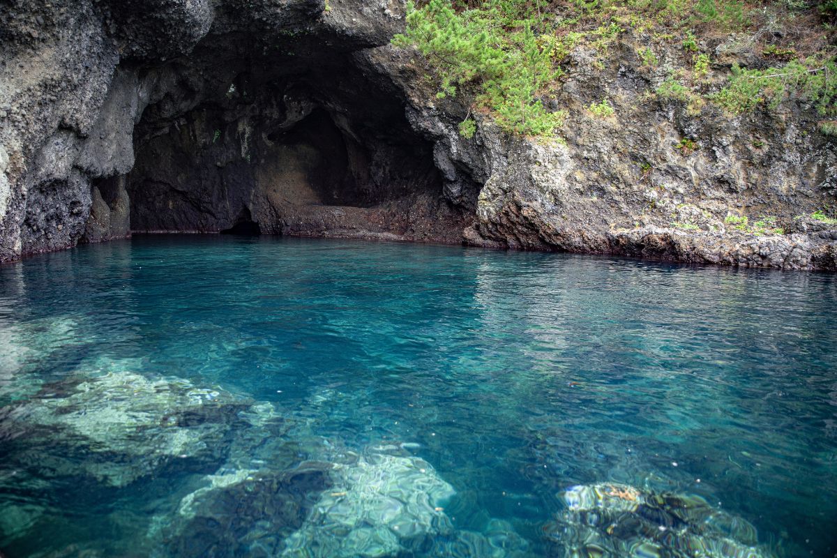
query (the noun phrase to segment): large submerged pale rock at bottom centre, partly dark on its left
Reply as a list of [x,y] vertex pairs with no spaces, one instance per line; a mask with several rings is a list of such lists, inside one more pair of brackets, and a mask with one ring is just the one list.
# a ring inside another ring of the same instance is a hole
[[159,516],[150,538],[162,532],[177,556],[531,556],[505,521],[455,529],[444,512],[454,489],[424,459],[375,448],[341,456],[278,473],[225,466]]

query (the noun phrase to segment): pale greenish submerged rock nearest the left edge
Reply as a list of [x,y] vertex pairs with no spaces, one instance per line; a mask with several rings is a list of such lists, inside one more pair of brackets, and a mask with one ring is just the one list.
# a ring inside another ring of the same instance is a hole
[[54,446],[46,457],[23,452],[18,458],[52,475],[85,474],[114,487],[178,459],[217,461],[251,402],[185,380],[150,379],[131,372],[134,365],[108,361],[102,376],[45,385],[15,407],[8,419],[18,435],[30,438],[27,448],[39,452],[40,438]]

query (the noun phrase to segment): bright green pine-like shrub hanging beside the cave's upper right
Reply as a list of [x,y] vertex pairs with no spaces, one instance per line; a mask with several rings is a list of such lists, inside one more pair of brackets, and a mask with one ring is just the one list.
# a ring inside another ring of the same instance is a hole
[[559,44],[554,35],[536,33],[535,8],[489,0],[456,13],[445,0],[430,0],[421,8],[408,3],[407,28],[393,44],[419,49],[439,79],[439,98],[469,85],[476,102],[494,113],[504,131],[551,136],[563,113],[548,112],[540,94],[561,74],[553,63]]

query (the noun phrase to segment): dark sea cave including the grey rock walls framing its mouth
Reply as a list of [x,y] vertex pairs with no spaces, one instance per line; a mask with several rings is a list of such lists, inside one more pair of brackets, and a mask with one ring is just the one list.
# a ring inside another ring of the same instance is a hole
[[467,105],[391,44],[403,3],[16,0],[7,16],[19,61],[0,72],[49,71],[0,107],[0,261],[136,233],[482,245],[477,197],[504,163],[482,146],[501,141],[463,140]]

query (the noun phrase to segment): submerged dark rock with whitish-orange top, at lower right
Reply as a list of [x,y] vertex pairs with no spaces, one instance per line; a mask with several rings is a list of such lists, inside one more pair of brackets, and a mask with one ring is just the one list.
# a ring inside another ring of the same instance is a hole
[[746,520],[713,508],[700,496],[643,492],[627,484],[574,486],[567,508],[547,525],[557,554],[770,558]]

